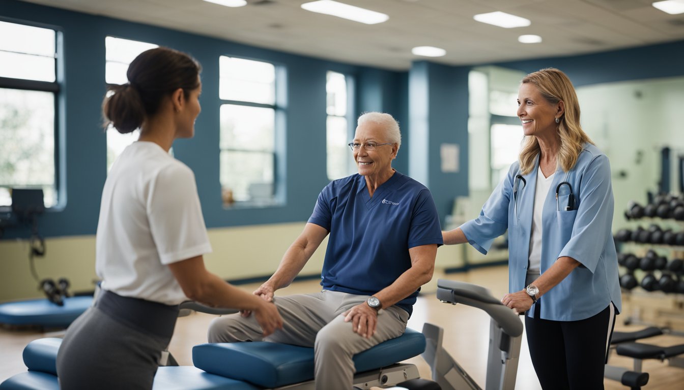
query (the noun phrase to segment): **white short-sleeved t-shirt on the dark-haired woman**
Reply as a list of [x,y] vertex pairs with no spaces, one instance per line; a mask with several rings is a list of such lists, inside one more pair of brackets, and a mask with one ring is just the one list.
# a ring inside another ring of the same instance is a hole
[[177,305],[183,294],[167,264],[211,252],[195,176],[153,142],[137,141],[109,171],[97,224],[101,287]]

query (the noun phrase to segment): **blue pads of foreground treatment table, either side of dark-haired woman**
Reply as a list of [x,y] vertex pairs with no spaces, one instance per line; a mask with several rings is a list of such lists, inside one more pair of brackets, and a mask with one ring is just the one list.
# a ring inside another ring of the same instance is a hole
[[[30,342],[23,353],[29,371],[0,383],[0,390],[58,390],[55,362],[61,344],[59,338]],[[354,363],[357,372],[365,372],[415,357],[424,350],[425,336],[406,328],[404,335],[356,354]],[[217,372],[198,368],[209,365],[212,359]],[[153,390],[259,390],[313,380],[313,348],[267,342],[200,344],[193,348],[193,360],[198,367],[159,367]]]

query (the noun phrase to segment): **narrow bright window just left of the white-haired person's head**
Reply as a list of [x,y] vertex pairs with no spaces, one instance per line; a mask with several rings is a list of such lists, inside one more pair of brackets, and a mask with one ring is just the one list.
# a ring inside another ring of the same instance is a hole
[[347,80],[344,74],[328,72],[326,76],[326,144],[328,179],[335,180],[354,173],[347,124]]

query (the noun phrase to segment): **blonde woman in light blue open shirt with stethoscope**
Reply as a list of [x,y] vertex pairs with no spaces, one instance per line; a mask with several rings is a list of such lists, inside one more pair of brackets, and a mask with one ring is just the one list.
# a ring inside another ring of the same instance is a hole
[[509,294],[525,312],[527,342],[544,389],[603,389],[603,368],[620,311],[611,234],[614,200],[608,158],[579,125],[568,76],[528,74],[518,91],[525,139],[508,176],[479,217],[449,232],[487,253],[508,229]]

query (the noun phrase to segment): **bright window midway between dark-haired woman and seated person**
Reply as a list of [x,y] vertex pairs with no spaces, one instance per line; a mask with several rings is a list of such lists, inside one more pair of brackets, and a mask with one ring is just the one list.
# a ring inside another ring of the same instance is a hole
[[224,206],[274,203],[276,67],[219,59],[220,182]]

